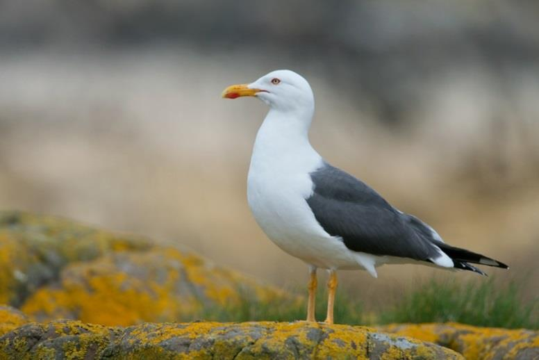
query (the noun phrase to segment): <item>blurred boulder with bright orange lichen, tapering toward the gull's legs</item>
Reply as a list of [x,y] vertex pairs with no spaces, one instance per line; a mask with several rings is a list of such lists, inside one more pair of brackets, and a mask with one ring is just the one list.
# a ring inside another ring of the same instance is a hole
[[58,283],[35,291],[21,309],[40,321],[70,318],[127,326],[192,320],[205,307],[240,302],[245,291],[260,302],[289,296],[198,256],[154,248],[68,265]]

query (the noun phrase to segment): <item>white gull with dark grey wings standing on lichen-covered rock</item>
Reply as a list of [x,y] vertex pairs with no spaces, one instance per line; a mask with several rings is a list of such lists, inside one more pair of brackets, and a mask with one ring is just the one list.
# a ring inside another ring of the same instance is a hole
[[307,321],[315,320],[317,269],[329,271],[326,320],[333,324],[337,270],[421,263],[486,275],[471,264],[507,265],[442,240],[428,224],[390,205],[363,181],[324,161],[310,145],[315,111],[309,83],[276,70],[231,85],[226,99],[257,97],[269,106],[256,134],[247,200],[256,222],[277,246],[308,264]]

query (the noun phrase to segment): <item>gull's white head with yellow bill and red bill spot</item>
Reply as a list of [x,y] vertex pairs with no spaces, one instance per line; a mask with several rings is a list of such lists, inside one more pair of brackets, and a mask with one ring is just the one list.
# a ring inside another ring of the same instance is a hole
[[315,98],[313,90],[303,76],[290,70],[276,70],[262,76],[250,84],[231,85],[222,97],[258,97],[279,111],[313,111]]

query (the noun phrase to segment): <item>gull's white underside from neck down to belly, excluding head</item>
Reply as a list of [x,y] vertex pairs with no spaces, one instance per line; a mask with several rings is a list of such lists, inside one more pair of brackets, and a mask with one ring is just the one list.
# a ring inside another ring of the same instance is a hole
[[310,172],[323,165],[308,140],[290,141],[265,120],[256,137],[247,199],[265,234],[292,256],[320,268],[358,268],[340,238],[317,222],[306,199],[313,193]]

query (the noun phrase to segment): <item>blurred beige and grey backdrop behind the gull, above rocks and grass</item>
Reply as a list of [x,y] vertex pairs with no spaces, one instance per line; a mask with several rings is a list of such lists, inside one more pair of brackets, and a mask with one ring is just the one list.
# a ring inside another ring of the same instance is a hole
[[[144,234],[303,289],[306,266],[247,207],[267,108],[220,99],[282,68],[313,86],[311,142],[327,161],[537,295],[536,1],[1,1],[0,208]],[[445,274],[388,266],[341,284],[378,303]]]

